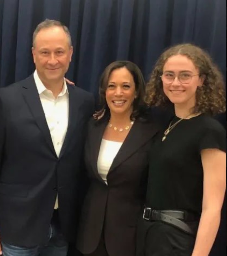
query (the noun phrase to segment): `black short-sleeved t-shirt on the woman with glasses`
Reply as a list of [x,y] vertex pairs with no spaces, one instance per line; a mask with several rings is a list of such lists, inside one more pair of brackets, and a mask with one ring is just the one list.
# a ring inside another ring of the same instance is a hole
[[[172,124],[178,121],[174,117]],[[226,132],[206,114],[180,121],[162,142],[160,132],[151,145],[146,207],[186,210],[200,216],[203,196],[202,149],[226,151]],[[213,170],[215,172],[215,170]]]

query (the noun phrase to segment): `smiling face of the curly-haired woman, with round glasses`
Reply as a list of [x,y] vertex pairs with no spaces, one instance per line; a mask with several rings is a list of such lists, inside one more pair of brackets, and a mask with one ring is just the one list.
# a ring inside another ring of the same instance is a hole
[[184,55],[171,56],[163,67],[163,91],[175,106],[191,108],[196,104],[196,90],[203,78],[193,62]]

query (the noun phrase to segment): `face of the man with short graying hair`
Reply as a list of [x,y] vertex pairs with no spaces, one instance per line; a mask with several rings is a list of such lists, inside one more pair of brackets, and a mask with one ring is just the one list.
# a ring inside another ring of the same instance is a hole
[[40,80],[44,85],[62,82],[72,57],[72,46],[63,28],[43,28],[34,44],[32,55]]

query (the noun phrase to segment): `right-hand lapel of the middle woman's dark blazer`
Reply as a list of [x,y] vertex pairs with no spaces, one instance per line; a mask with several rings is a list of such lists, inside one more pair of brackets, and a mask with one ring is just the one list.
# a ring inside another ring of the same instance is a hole
[[136,120],[112,162],[109,173],[142,147],[158,131],[159,128],[154,123],[142,123]]

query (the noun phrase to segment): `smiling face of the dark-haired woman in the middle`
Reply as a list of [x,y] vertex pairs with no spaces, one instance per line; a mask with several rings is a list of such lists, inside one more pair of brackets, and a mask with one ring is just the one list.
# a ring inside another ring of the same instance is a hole
[[136,96],[135,82],[132,74],[125,67],[117,68],[110,73],[106,102],[110,114],[131,115]]

